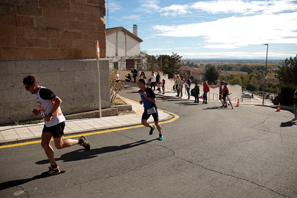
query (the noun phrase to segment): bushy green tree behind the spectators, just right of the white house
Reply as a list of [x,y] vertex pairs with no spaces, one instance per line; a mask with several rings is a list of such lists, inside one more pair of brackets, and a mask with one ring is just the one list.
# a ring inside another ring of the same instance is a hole
[[[162,55],[162,64],[163,64],[163,56],[168,55]],[[165,74],[168,74],[168,78],[173,78],[174,74],[181,73],[180,69],[180,62],[181,62],[182,56],[179,56],[177,53],[172,53],[170,58],[166,57],[165,64],[163,65],[163,72]]]

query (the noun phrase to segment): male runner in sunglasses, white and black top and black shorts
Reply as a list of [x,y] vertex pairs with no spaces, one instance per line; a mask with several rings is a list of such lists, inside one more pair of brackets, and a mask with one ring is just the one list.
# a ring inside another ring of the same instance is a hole
[[41,134],[41,146],[50,161],[50,167],[48,171],[43,172],[41,175],[44,177],[48,177],[50,175],[58,174],[61,171],[56,164],[54,151],[50,145],[50,140],[52,139],[52,137],[57,149],[62,149],[78,144],[82,145],[87,151],[89,151],[91,148],[90,144],[84,136],[81,136],[78,140],[63,140],[65,117],[62,114],[60,108],[62,100],[58,96],[56,96],[56,94],[54,94],[50,89],[40,86],[37,78],[34,75],[25,77],[23,79],[23,84],[25,86],[25,89],[32,95],[36,94],[38,110],[33,109],[33,115],[37,116],[41,114],[42,118],[45,121],[45,125],[43,126]]

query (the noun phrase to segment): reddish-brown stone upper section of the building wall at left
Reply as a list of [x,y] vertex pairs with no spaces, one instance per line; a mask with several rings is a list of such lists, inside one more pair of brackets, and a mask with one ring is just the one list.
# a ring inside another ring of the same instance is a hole
[[0,60],[106,57],[105,0],[0,1]]

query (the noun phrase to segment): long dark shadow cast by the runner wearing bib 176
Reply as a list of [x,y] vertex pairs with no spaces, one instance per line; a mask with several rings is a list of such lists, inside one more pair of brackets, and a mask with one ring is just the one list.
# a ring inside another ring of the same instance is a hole
[[[55,158],[55,160],[56,161],[63,160],[63,162],[66,162],[66,161],[78,161],[78,160],[84,160],[84,159],[91,159],[91,158],[97,157],[99,154],[132,148],[135,146],[147,144],[149,142],[152,142],[152,141],[158,140],[158,139],[159,138],[156,138],[153,140],[148,140],[148,141],[140,140],[137,142],[124,144],[121,146],[105,146],[102,148],[94,148],[94,149],[91,149],[90,151],[86,151],[84,148],[82,148],[82,149],[78,149],[76,151],[65,153],[65,154],[61,155],[60,158]],[[37,161],[36,164],[48,164],[48,159]]]

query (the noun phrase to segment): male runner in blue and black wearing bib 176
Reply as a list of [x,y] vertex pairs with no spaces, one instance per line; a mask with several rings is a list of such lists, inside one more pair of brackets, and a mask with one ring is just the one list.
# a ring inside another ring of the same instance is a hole
[[[138,80],[138,87],[140,90],[138,93],[140,94],[141,100],[139,101],[139,104],[143,104],[144,112],[141,117],[141,124],[143,126],[151,128],[149,134],[152,135],[154,132],[154,129],[157,127],[159,131],[159,139],[163,140],[163,134],[161,125],[159,124],[159,116],[158,116],[158,110],[156,106],[156,96],[154,91],[146,87],[146,80],[145,79],[139,79]],[[147,122],[150,116],[153,116],[155,125],[151,125]]]

